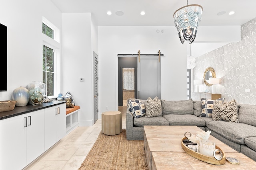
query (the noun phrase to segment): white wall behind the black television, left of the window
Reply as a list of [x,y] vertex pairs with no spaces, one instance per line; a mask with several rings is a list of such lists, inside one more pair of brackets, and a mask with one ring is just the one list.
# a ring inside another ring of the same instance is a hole
[[15,88],[42,81],[42,1],[0,4],[0,23],[7,26],[7,92],[0,100],[11,100]]

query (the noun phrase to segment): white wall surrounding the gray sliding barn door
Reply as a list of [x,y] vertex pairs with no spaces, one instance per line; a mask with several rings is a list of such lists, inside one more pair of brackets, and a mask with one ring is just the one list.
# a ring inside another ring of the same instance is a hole
[[175,27],[100,26],[98,30],[99,117],[104,111],[118,110],[116,54],[137,54],[138,50],[141,54],[157,54],[160,50],[164,54],[161,57],[161,98],[187,99],[187,46],[180,43]]

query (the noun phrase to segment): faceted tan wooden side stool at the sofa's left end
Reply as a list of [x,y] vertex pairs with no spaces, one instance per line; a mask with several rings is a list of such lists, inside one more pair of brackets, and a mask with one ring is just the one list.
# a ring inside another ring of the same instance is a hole
[[101,114],[101,131],[104,135],[120,134],[122,129],[122,112],[106,111]]

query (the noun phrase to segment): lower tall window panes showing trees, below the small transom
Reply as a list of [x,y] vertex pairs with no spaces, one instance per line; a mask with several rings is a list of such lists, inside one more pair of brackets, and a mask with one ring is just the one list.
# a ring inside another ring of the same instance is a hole
[[54,95],[54,51],[43,45],[43,83],[46,84],[46,96]]

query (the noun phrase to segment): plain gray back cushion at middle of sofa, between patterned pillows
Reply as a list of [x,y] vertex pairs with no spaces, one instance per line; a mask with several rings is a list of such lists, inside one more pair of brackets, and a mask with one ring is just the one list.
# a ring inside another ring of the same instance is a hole
[[166,101],[161,100],[162,104],[162,114],[176,114],[176,115],[184,115],[184,114],[194,114],[193,109],[193,100],[179,100],[179,101]]

